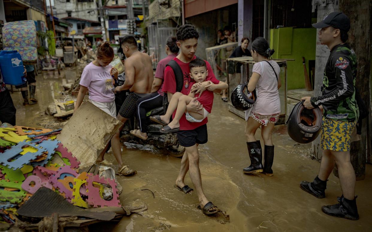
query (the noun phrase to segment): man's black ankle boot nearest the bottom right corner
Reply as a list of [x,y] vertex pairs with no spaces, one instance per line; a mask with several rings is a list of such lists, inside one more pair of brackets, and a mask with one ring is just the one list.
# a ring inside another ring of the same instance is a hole
[[344,196],[342,195],[340,197],[339,204],[334,204],[331,206],[322,206],[322,211],[323,213],[328,214],[330,216],[341,217],[350,220],[358,220],[359,214],[358,209],[356,207],[356,198],[357,197],[355,197],[353,200],[348,200],[344,198]]

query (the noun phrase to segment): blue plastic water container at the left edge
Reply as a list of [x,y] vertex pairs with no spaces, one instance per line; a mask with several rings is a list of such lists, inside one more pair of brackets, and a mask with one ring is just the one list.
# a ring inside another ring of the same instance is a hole
[[18,51],[0,51],[0,69],[7,85],[22,85],[26,82],[22,57]]

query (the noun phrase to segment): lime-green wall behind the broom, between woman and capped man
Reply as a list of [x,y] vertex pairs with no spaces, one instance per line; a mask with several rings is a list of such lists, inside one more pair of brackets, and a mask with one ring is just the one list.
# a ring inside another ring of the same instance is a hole
[[273,58],[295,59],[287,62],[288,89],[305,88],[302,57],[305,57],[307,72],[309,72],[308,61],[315,60],[316,33],[315,28],[270,29],[270,48],[275,49]]

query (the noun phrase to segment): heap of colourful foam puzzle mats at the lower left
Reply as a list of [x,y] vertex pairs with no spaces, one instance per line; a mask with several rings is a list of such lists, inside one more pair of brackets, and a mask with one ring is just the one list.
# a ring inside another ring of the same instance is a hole
[[[121,207],[115,179],[79,171],[80,162],[56,139],[61,130],[0,127],[0,216],[5,222],[15,223],[17,208],[42,187],[74,206]],[[108,188],[112,200],[103,197]]]

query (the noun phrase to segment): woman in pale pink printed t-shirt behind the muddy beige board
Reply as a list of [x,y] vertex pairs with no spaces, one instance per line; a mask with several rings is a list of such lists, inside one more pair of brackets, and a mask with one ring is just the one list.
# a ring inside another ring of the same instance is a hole
[[[110,64],[114,58],[114,51],[110,46],[110,42],[106,41],[100,44],[96,54],[96,60],[85,66],[83,73],[81,73],[80,90],[77,95],[75,110],[80,107],[87,90],[89,90],[89,101],[107,114],[116,118],[113,77],[118,79],[118,70],[112,68]],[[96,160],[97,164],[112,165],[112,163],[103,159],[107,146],[98,156]],[[124,165],[122,161],[121,145],[118,135],[115,134],[112,137],[111,146],[113,155],[119,164],[119,173],[123,175],[134,174],[135,171],[131,170],[127,165]]]

